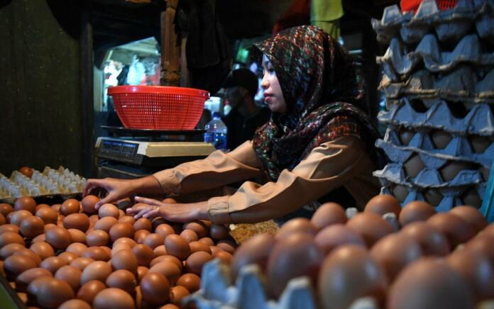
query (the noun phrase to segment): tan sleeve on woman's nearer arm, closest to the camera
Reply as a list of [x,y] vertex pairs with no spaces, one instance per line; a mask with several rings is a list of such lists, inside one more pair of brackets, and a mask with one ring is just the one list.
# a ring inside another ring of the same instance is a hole
[[314,147],[292,171],[283,170],[276,182],[245,182],[231,196],[210,198],[213,223],[256,223],[279,218],[317,200],[356,176],[368,163],[358,137],[339,137]]

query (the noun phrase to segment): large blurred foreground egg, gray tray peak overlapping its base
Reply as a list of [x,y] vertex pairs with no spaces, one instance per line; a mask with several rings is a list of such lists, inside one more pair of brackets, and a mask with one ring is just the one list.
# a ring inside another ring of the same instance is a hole
[[322,308],[348,308],[354,300],[373,297],[384,302],[384,271],[363,247],[342,245],[324,259],[317,291]]

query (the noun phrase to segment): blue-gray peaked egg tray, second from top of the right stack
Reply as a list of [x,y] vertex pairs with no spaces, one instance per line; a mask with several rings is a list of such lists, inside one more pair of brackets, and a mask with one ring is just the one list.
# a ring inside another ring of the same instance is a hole
[[376,57],[376,62],[382,64],[385,74],[391,80],[399,81],[410,76],[415,67],[422,63],[429,72],[446,72],[461,63],[479,67],[492,66],[494,52],[486,51],[476,34],[465,35],[451,52],[441,51],[437,38],[429,33],[424,35],[412,51],[399,39],[391,39],[385,55]]

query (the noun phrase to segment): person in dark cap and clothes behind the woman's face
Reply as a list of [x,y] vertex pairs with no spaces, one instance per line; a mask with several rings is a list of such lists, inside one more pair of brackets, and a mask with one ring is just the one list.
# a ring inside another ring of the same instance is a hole
[[235,69],[223,84],[225,99],[231,111],[223,121],[228,128],[226,145],[234,149],[246,140],[251,140],[258,127],[268,122],[271,111],[260,107],[254,97],[258,91],[256,74],[249,69]]

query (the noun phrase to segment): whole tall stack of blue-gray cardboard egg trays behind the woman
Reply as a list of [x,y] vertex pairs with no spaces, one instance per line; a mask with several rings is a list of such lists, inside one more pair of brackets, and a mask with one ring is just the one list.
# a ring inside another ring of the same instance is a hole
[[[388,125],[376,146],[390,163],[374,172],[402,206],[481,208],[494,158],[494,1],[459,0],[439,11],[389,6],[373,28],[389,44],[377,62]],[[485,212],[485,210],[482,209]]]

